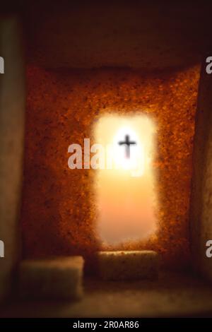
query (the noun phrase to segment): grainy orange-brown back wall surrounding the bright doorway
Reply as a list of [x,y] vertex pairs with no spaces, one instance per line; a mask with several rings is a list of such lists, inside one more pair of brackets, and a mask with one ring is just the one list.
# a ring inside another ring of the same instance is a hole
[[[165,266],[189,261],[189,195],[199,66],[144,74],[130,69],[47,71],[28,68],[23,186],[23,253],[27,258],[97,250],[151,249]],[[68,147],[93,141],[105,114],[147,114],[158,127],[158,232],[118,248],[100,242],[95,170],[70,170]],[[88,259],[89,261],[89,259]]]

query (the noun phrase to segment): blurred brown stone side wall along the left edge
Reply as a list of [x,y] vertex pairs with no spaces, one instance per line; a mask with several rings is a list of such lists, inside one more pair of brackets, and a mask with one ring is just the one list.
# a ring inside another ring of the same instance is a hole
[[0,301],[11,288],[19,254],[18,223],[25,124],[25,71],[18,21],[0,19],[0,56],[5,73],[0,74]]

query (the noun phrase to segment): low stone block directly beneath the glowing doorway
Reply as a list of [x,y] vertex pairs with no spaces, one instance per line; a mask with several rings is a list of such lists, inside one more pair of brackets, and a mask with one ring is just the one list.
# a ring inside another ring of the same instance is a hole
[[139,280],[158,277],[155,251],[100,251],[98,270],[103,280]]

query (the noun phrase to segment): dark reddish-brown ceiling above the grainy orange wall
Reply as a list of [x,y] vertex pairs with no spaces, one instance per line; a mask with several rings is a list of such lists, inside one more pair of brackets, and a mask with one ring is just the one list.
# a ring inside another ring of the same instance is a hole
[[208,1],[16,1],[27,60],[58,68],[189,66],[211,49]]

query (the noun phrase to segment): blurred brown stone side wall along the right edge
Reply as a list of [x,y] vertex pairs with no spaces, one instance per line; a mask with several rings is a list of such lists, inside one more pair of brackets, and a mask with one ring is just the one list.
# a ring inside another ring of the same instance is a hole
[[[205,57],[206,59],[206,57]],[[203,61],[194,136],[190,230],[192,261],[197,271],[212,280],[212,259],[206,242],[212,239],[212,74]]]

